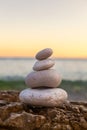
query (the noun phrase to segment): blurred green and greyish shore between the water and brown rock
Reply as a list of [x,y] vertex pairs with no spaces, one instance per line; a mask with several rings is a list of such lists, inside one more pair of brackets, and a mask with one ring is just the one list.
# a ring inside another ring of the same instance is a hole
[[[18,90],[27,88],[24,80],[5,81],[0,80],[0,90]],[[67,91],[69,100],[87,101],[87,81],[65,81],[63,80],[59,88]]]

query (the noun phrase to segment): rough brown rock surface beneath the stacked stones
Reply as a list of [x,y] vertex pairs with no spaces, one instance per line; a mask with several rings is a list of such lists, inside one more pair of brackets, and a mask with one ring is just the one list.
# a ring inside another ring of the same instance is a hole
[[0,92],[0,130],[87,130],[87,103],[36,108],[22,104],[18,94]]

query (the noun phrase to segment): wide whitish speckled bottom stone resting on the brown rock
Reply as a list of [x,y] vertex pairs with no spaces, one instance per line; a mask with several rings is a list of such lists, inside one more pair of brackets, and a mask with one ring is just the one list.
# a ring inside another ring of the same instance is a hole
[[59,106],[66,102],[67,92],[61,88],[25,89],[20,95],[21,102],[34,106]]

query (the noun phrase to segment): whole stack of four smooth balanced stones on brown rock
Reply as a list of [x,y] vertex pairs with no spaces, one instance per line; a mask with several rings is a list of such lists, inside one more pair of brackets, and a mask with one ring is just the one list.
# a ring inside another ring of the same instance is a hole
[[36,54],[33,71],[25,79],[29,88],[19,95],[21,102],[32,106],[57,107],[67,101],[67,92],[58,88],[61,77],[51,68],[55,64],[49,58],[52,53],[52,49],[46,48]]

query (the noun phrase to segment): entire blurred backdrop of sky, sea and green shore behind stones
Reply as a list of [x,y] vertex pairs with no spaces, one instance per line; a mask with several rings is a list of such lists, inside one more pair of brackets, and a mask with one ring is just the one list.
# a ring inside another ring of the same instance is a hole
[[87,101],[87,1],[0,1],[0,90],[24,89],[44,48],[70,100]]

